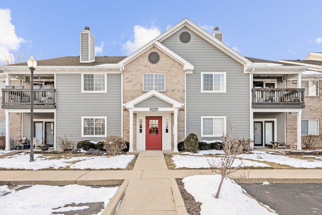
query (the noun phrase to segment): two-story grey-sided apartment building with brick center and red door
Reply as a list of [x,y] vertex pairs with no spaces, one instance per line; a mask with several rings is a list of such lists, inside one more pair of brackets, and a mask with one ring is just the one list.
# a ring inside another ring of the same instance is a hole
[[[220,140],[234,126],[236,137],[264,147],[286,140],[286,115],[294,113],[301,149],[304,90],[301,82],[287,89],[286,81],[307,66],[247,58],[222,38],[184,19],[127,57],[98,57],[86,27],[80,56],[37,61],[34,138],[59,149],[55,137],[64,134],[75,142],[113,134],[130,142],[130,152],[177,152],[191,132]],[[9,150],[11,115],[22,114],[21,135],[31,135],[30,70],[26,63],[0,69],[6,85],[18,76],[24,86],[3,89]]]

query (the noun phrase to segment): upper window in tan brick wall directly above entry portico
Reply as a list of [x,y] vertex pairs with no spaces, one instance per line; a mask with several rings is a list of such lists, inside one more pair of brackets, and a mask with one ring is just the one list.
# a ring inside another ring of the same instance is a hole
[[165,74],[143,74],[143,91],[165,91],[166,90]]

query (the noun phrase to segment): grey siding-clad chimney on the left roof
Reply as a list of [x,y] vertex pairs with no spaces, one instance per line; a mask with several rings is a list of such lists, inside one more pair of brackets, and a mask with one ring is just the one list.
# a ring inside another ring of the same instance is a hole
[[95,62],[95,38],[90,30],[90,27],[85,27],[85,30],[80,31],[79,37],[81,46],[79,62]]

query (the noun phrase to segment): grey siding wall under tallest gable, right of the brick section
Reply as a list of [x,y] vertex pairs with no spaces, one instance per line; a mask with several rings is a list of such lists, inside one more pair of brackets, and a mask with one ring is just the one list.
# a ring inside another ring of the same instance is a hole
[[[190,42],[180,42],[183,31],[191,34]],[[193,74],[187,74],[186,135],[193,132],[201,139],[220,139],[200,137],[201,116],[226,116],[227,131],[234,126],[236,137],[249,137],[250,83],[243,65],[186,27],[162,43],[194,65]],[[225,72],[226,93],[201,93],[202,72]]]

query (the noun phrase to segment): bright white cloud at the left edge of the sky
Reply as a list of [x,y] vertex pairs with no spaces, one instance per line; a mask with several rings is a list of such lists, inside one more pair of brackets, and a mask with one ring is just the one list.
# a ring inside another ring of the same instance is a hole
[[13,55],[20,44],[25,42],[22,37],[16,35],[15,26],[11,23],[10,9],[0,8],[0,64],[4,64],[5,56]]

